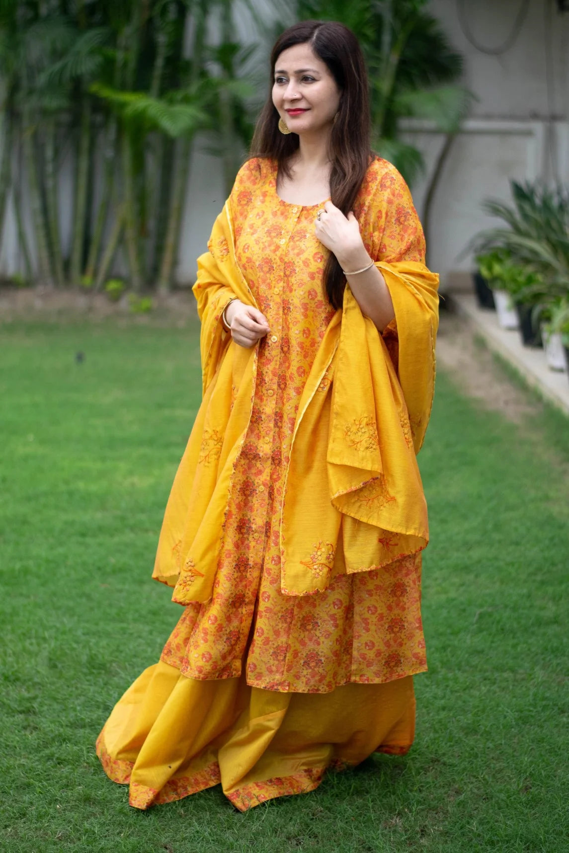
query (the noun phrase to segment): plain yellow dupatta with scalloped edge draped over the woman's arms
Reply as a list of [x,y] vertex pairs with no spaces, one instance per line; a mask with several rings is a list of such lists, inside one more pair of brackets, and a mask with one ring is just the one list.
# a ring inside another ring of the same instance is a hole
[[[194,287],[203,400],[165,510],[153,577],[173,601],[212,596],[231,479],[253,409],[257,350],[220,317],[229,299],[255,305],[235,260],[225,205]],[[427,506],[415,453],[433,402],[438,276],[424,264],[377,267],[395,308],[397,344],[364,317],[350,287],[300,398],[282,505],[282,592],[326,589],[339,572],[385,566],[425,548]],[[386,343],[387,341],[387,343]]]

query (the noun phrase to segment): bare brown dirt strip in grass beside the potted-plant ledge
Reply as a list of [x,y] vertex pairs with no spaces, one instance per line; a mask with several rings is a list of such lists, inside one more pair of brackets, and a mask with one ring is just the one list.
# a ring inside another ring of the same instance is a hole
[[508,421],[521,423],[526,415],[543,409],[537,397],[516,387],[504,374],[490,350],[478,343],[460,316],[444,311],[437,337],[437,362],[468,397],[486,409],[501,412]]

